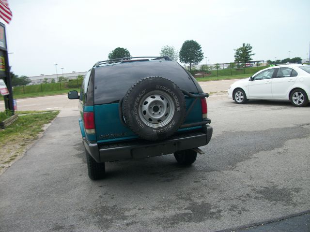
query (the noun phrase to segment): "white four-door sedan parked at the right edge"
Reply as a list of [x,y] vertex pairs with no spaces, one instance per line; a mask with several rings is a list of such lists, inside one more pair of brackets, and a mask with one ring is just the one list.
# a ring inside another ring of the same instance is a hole
[[294,106],[308,105],[310,65],[287,64],[263,69],[233,83],[228,98],[238,104],[249,99],[290,100]]

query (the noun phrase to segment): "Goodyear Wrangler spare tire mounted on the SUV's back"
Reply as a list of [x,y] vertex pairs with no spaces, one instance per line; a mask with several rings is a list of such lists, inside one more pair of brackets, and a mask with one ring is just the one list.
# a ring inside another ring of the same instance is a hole
[[156,141],[171,136],[183,124],[186,102],[171,80],[151,76],[128,89],[122,110],[131,131],[143,139]]

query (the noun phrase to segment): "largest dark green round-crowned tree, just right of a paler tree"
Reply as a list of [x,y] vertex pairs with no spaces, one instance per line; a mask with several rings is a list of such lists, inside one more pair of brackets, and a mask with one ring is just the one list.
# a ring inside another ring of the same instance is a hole
[[194,40],[186,40],[179,52],[180,61],[189,64],[191,70],[192,63],[199,63],[203,59],[202,46]]

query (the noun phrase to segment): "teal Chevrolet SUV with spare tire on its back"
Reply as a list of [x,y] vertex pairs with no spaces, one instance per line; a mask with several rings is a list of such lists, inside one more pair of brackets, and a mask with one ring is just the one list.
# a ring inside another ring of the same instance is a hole
[[169,57],[97,62],[86,74],[78,99],[79,127],[89,177],[105,175],[105,162],[174,154],[181,165],[195,162],[207,145],[207,93]]

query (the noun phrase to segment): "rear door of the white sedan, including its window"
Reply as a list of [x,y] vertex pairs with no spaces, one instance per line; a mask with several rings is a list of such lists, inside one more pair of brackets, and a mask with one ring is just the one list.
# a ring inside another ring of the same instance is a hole
[[297,79],[297,72],[292,68],[279,68],[272,79],[272,98],[283,99],[287,96]]

